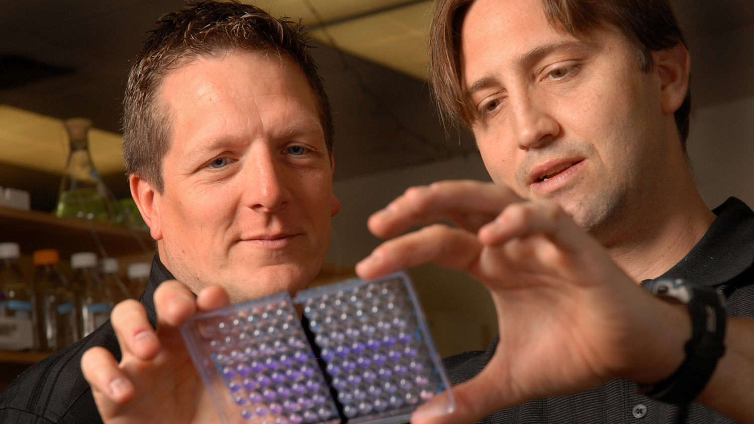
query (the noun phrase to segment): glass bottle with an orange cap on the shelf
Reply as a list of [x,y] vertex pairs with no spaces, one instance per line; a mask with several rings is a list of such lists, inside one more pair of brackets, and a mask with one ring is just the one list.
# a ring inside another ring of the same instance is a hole
[[58,269],[60,253],[57,250],[37,250],[32,258],[36,267],[34,290],[38,349],[60,350],[79,338],[75,297],[68,280]]

